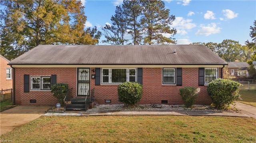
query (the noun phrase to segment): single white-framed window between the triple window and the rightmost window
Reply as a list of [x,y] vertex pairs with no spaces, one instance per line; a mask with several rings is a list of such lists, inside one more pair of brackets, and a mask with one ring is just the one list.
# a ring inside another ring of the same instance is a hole
[[163,84],[175,84],[176,69],[175,68],[163,68]]

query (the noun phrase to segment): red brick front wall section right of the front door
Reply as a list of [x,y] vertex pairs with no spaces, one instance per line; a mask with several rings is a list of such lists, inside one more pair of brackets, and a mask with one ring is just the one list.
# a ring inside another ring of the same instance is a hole
[[[179,95],[179,89],[185,86],[200,88],[196,104],[209,105],[212,103],[207,93],[207,86],[198,86],[198,68],[182,68],[182,86],[162,85],[162,68],[143,68],[142,80],[143,95],[139,104],[161,104],[162,100],[168,100],[168,104],[171,105],[184,104]],[[105,100],[111,100],[112,104],[121,104],[118,102],[118,85],[95,86],[94,79],[90,83],[91,89],[95,88],[96,101],[99,104],[104,104]]]

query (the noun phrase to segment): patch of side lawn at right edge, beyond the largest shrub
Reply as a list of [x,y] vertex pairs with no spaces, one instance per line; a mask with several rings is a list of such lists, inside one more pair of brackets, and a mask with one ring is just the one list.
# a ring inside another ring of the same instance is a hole
[[238,102],[256,107],[256,90],[240,90],[239,94],[242,100]]

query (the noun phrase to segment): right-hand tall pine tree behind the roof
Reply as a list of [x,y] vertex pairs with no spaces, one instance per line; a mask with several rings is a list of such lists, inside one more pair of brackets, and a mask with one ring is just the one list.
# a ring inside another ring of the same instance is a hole
[[169,44],[176,43],[174,36],[176,29],[170,27],[175,16],[169,15],[170,10],[165,8],[161,0],[141,0],[143,16],[141,19],[145,44]]

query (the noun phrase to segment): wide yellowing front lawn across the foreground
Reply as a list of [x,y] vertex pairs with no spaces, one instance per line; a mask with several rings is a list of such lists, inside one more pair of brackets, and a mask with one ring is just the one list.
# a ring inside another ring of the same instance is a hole
[[1,136],[12,143],[255,143],[256,119],[208,116],[42,116]]

